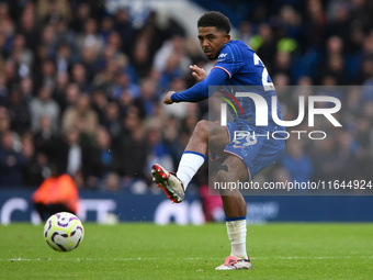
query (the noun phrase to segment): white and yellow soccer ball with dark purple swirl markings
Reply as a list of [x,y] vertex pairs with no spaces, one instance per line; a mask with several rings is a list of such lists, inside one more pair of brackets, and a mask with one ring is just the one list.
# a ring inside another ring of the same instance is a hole
[[84,236],[83,225],[71,213],[52,215],[44,226],[44,238],[57,251],[70,251],[79,246]]

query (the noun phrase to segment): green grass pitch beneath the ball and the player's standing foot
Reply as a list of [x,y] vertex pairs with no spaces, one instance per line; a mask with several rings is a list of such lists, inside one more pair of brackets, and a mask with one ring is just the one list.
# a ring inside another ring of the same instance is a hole
[[43,226],[0,226],[0,279],[373,279],[373,224],[249,225],[253,269],[215,271],[225,224],[84,224],[81,245],[50,249]]

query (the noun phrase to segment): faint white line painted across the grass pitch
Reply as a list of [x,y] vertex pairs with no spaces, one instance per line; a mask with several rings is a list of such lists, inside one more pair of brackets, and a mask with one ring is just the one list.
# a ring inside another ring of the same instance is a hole
[[[110,260],[114,261],[133,261],[133,260],[162,260],[162,259],[174,259],[174,258],[112,258]],[[224,258],[182,258],[184,260],[217,260],[217,259],[224,259]],[[296,259],[373,259],[373,256],[318,256],[318,257],[299,257],[299,256],[290,256],[290,257],[252,257],[250,258],[252,260],[267,260],[267,259],[284,259],[284,260],[296,260]],[[0,261],[101,261],[101,260],[108,260],[103,258],[75,258],[75,259],[27,259],[27,258],[13,258],[13,259],[0,259]]]

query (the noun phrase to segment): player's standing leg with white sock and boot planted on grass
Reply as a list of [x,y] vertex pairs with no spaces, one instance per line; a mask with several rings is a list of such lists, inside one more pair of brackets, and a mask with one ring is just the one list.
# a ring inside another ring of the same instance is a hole
[[[222,183],[249,181],[249,172],[241,159],[236,156],[228,156],[217,172],[216,180]],[[221,186],[222,186],[221,184]],[[228,184],[225,184],[228,186]],[[230,256],[217,270],[228,269],[251,269],[251,264],[246,251],[246,201],[238,189],[221,190],[226,226],[230,240]]]

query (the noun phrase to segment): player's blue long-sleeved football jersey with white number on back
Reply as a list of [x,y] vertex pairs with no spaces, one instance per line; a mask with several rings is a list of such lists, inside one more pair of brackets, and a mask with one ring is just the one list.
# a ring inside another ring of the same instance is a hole
[[[224,70],[226,75],[219,74],[222,70],[214,71],[214,68]],[[283,128],[276,125],[272,117],[272,97],[276,94],[268,70],[259,56],[244,42],[231,40],[225,44],[211,74],[192,88],[173,93],[171,100],[199,102],[207,99],[215,91],[221,91],[225,96],[222,98],[229,103],[228,108],[235,122],[270,131]],[[247,93],[251,97],[247,97]],[[279,101],[275,104],[278,119],[283,120]],[[260,110],[258,113],[261,116],[262,113],[267,113],[267,117],[256,120],[257,109]],[[265,119],[264,124],[263,119]]]

